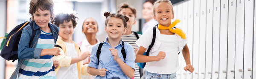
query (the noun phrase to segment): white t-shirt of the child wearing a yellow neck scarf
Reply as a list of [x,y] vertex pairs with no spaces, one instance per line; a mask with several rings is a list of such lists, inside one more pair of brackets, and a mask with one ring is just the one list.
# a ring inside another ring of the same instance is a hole
[[[153,28],[143,34],[137,41],[136,44],[148,48],[153,38]],[[183,50],[186,45],[186,40],[183,40],[177,34],[165,35],[160,34],[158,28],[156,28],[156,40],[154,46],[149,52],[149,56],[157,56],[160,51],[166,53],[166,57],[160,61],[147,62],[145,70],[151,73],[158,74],[172,74],[179,70],[178,53]]]

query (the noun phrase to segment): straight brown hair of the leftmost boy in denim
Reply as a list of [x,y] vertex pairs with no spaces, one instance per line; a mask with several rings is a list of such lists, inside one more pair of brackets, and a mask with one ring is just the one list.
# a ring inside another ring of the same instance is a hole
[[53,1],[52,0],[31,0],[29,3],[29,14],[31,14],[31,20],[34,21],[34,13],[38,9],[44,11],[49,10],[51,14],[51,20],[53,19]]

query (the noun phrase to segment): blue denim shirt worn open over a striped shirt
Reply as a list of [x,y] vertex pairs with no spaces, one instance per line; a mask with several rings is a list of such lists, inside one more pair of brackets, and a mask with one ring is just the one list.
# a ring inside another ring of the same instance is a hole
[[[54,37],[54,42],[56,43],[56,41],[58,39],[58,33],[57,33],[57,31],[55,31],[55,29],[53,27],[57,27],[57,25],[48,23],[48,26],[52,31],[52,35]],[[31,27],[34,28],[33,30],[36,30],[36,34],[31,42],[31,45],[29,46],[30,36],[32,36],[32,28]],[[17,68],[15,69],[14,73],[12,73],[12,76],[10,79],[17,78],[18,71],[20,70],[20,66],[22,65],[24,59],[40,58],[42,48],[35,48],[40,34],[41,34],[41,28],[35,23],[35,21],[33,21],[33,26],[27,25],[25,28],[23,28],[22,34],[20,37],[19,46],[18,46],[18,57],[19,57],[18,65],[17,65]]]

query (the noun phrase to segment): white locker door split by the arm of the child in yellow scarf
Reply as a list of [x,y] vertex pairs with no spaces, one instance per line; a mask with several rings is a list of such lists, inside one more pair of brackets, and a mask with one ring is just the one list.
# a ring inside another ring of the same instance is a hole
[[[186,33],[186,36],[187,36],[187,33],[188,33],[188,31],[187,31],[188,30],[187,29],[188,28],[187,15],[188,15],[188,2],[186,1],[186,2],[182,3],[182,18],[181,18],[181,21],[183,21],[182,22],[182,29]],[[186,62],[185,62],[185,59],[184,59],[182,53],[180,53],[180,56],[182,56],[180,58],[180,60],[181,60],[181,65],[180,65],[181,79],[186,79],[186,71],[184,70],[184,67],[186,66]]]

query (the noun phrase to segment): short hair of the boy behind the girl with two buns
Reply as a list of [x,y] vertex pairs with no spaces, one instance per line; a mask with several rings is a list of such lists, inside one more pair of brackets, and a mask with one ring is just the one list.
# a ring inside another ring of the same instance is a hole
[[117,11],[117,13],[119,13],[123,8],[130,8],[132,13],[134,14],[135,18],[136,18],[136,9],[134,7],[132,7],[129,3],[125,2],[125,3],[121,3],[118,6],[119,10]]

